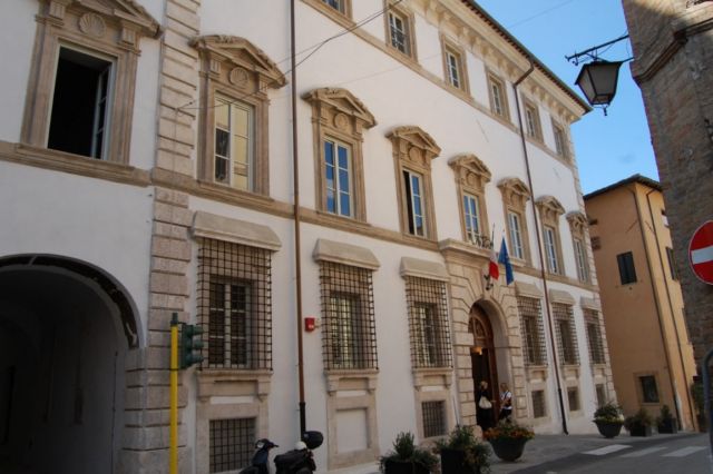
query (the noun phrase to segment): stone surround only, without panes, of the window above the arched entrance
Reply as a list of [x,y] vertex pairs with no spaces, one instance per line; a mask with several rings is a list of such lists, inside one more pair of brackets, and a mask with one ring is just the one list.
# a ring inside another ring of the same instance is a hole
[[[490,224],[488,221],[488,207],[486,205],[486,185],[490,182],[491,172],[488,167],[475,155],[457,155],[448,160],[448,166],[453,170],[456,186],[458,188],[458,207],[460,209],[460,226],[463,241],[480,248],[490,248],[492,244],[488,236]],[[472,241],[466,226],[466,209],[463,198],[466,195],[478,199],[479,237]]]

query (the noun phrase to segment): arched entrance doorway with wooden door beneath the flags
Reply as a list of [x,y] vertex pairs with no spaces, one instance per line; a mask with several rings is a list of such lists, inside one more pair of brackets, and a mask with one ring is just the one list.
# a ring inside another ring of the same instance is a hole
[[[469,330],[473,335],[473,346],[470,348],[473,387],[478,389],[481,381],[490,386],[494,401],[498,399],[498,365],[495,354],[492,325],[488,314],[477,304],[470,308]],[[494,409],[497,415],[497,409]]]

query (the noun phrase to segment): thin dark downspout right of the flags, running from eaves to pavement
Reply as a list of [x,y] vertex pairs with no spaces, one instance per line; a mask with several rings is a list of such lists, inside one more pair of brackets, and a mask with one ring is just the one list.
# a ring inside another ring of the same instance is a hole
[[553,314],[549,308],[549,290],[547,288],[547,271],[545,268],[545,256],[543,254],[543,238],[540,236],[539,218],[537,217],[537,209],[535,208],[535,190],[533,188],[533,172],[530,170],[530,159],[527,154],[527,139],[525,138],[525,127],[522,126],[522,113],[520,110],[520,98],[518,95],[518,87],[529,75],[535,70],[535,61],[528,57],[530,67],[525,73],[512,83],[515,91],[515,106],[517,108],[517,120],[520,128],[520,141],[522,142],[522,156],[525,157],[525,169],[527,170],[527,186],[530,190],[530,201],[533,207],[533,218],[535,219],[535,236],[537,237],[537,255],[539,257],[540,278],[543,279],[543,288],[545,290],[545,310],[547,312],[547,327],[549,329],[549,340],[553,347],[553,362],[555,365],[555,379],[557,381],[557,398],[559,401],[559,413],[561,415],[561,431],[564,434],[569,434],[567,431],[567,412],[565,411],[565,401],[561,394],[561,381],[559,377],[559,361],[557,356],[557,339],[555,338]]

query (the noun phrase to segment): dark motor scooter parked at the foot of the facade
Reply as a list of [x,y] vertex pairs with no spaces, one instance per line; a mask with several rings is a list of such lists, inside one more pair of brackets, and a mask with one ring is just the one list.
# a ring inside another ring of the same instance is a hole
[[[320,447],[323,441],[324,436],[320,432],[302,433],[302,440],[295,443],[294,450],[275,456],[276,474],[312,474],[316,471],[312,450]],[[251,466],[240,474],[268,474],[267,458],[270,450],[274,447],[280,446],[267,438],[257,440]]]

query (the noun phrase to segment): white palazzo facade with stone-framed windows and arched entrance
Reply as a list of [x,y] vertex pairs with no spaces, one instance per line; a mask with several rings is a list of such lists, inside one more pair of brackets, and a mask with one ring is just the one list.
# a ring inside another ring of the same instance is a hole
[[287,1],[7,3],[0,471],[166,472],[174,313],[205,344],[180,472],[294,443],[299,332],[320,472],[475,425],[484,379],[538,433],[594,431],[589,109],[478,6],[295,0],[293,75]]

